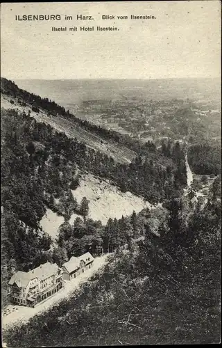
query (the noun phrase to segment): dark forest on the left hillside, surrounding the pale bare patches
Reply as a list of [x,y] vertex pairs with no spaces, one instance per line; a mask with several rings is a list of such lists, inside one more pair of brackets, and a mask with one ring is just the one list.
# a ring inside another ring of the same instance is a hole
[[[154,204],[179,196],[186,180],[184,154],[178,143],[174,146],[169,143],[166,149],[163,144],[163,154],[174,159],[173,166],[167,168],[140,155],[132,164],[116,164],[111,157],[67,138],[49,125],[36,122],[26,113],[21,115],[13,109],[2,109],[1,207],[5,284],[16,269],[27,271],[51,257],[51,237],[40,228],[46,207],[64,216],[66,224],[73,212],[87,217],[87,201],[78,205],[71,193],[78,187],[76,168],[106,177],[122,191],[132,191]],[[59,203],[56,203],[57,199]],[[96,230],[100,229],[101,223],[98,223]],[[85,234],[87,230],[90,228],[85,226]],[[84,237],[83,232],[79,233]],[[92,243],[93,248],[98,245],[105,248],[101,232],[98,237],[85,239],[88,244],[85,242],[84,247],[78,245],[73,250],[88,251]],[[75,243],[78,244],[75,241],[70,245]],[[53,253],[54,260],[60,259],[63,253],[62,244],[58,245],[60,248]],[[69,247],[68,255],[70,250]]]

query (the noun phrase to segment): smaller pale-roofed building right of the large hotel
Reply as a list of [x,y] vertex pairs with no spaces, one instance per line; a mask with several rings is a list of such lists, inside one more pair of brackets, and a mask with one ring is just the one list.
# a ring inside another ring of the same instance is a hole
[[68,262],[62,264],[63,280],[71,280],[83,274],[85,270],[93,267],[93,262],[94,258],[90,253],[85,253],[78,258],[72,256]]

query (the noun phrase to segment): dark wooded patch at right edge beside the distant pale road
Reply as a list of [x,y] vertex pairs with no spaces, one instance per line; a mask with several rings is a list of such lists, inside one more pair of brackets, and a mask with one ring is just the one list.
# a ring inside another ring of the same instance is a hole
[[192,145],[187,157],[195,174],[221,174],[221,143]]

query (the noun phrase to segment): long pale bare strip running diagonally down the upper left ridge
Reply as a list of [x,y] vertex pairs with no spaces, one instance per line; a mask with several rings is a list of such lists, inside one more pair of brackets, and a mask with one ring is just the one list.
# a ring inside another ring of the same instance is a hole
[[42,103],[41,107],[41,103],[33,102],[30,93],[20,90],[15,84],[11,84],[6,79],[1,79],[1,107],[5,109],[13,108],[21,113],[29,113],[37,122],[51,125],[58,132],[65,132],[70,138],[77,139],[85,143],[89,148],[99,150],[109,157],[111,156],[119,163],[130,163],[135,158],[136,153],[133,150],[113,140],[108,139],[104,141],[102,136],[80,127],[74,117],[69,119],[65,117],[65,109],[62,107],[50,113],[44,106],[44,103]]

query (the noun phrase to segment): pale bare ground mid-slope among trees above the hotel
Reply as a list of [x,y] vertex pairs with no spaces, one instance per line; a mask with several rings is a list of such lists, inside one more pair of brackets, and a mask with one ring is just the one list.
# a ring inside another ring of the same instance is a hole
[[[130,216],[133,211],[138,213],[142,209],[153,209],[155,207],[131,192],[121,192],[110,180],[102,180],[90,173],[81,175],[79,186],[71,192],[78,205],[84,197],[87,198],[89,201],[89,218],[94,221],[101,221],[104,226],[110,218],[121,219],[122,216]],[[70,225],[74,224],[76,218],[83,219],[79,214],[72,213],[69,219]],[[46,213],[40,220],[40,226],[52,239],[56,239],[59,228],[64,222],[63,216],[59,216],[56,212],[47,208]]]

